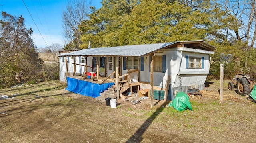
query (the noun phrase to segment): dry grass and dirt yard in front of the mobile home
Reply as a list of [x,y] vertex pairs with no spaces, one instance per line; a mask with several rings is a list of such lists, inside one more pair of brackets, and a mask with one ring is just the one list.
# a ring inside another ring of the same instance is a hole
[[0,100],[1,142],[254,142],[248,135],[256,128],[256,104],[229,90],[220,102],[219,84],[212,82],[202,96],[190,97],[193,111],[182,112],[163,101],[150,108],[117,100],[110,108],[58,81],[3,89],[0,95],[13,98]]

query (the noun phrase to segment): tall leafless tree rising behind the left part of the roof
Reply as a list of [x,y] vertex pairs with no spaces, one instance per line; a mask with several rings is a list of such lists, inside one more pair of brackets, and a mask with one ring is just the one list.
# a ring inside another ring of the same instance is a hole
[[[62,10],[64,41],[72,43],[73,49],[80,48],[80,45],[82,44],[78,25],[86,20],[87,15],[90,12],[90,5],[91,1],[75,0],[68,2],[66,9]],[[65,49],[68,48],[70,47]]]

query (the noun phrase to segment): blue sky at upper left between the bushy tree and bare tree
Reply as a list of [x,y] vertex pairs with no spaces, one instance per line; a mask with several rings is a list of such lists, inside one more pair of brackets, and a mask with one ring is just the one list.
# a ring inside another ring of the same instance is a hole
[[[31,27],[34,31],[32,38],[38,48],[44,48],[53,43],[59,43],[63,46],[61,15],[68,1],[69,0],[24,0],[23,2],[22,0],[0,0],[0,12],[4,11],[17,17],[22,15],[22,17],[25,18],[26,27]],[[92,0],[92,6],[98,9],[101,7],[100,2],[102,2],[102,0]]]

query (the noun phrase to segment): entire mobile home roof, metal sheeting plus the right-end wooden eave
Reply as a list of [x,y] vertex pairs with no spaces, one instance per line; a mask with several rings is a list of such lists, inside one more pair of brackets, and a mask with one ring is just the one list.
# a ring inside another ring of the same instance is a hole
[[[145,55],[149,55],[156,51],[166,48],[172,48],[177,45],[189,46],[189,44],[201,46],[202,49],[213,51],[215,49],[214,46],[203,42],[202,40],[197,41],[183,41],[183,42],[169,42],[169,43],[156,43],[156,44],[143,44],[143,45],[126,45],[126,46],[117,46],[117,47],[101,47],[101,48],[90,48],[90,49],[82,49],[79,51],[74,51],[70,53],[63,53],[59,56],[126,56],[126,57],[143,57]],[[205,47],[202,47],[200,43]],[[193,47],[192,47],[193,48]]]

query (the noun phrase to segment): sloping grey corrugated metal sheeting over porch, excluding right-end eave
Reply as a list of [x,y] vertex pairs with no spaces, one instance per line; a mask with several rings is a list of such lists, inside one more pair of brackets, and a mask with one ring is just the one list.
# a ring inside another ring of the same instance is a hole
[[143,44],[143,45],[128,45],[117,47],[102,47],[102,48],[90,48],[70,53],[64,53],[59,56],[132,56],[142,57],[148,53],[164,49],[176,42],[170,43],[156,43],[156,44]]

